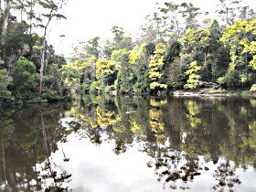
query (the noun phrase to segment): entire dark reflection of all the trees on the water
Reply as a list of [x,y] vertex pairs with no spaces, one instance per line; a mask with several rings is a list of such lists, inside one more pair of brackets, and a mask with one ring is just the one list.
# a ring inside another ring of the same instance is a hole
[[68,164],[62,144],[75,133],[97,145],[113,141],[115,155],[139,144],[165,188],[188,189],[208,173],[212,189],[232,191],[241,183],[236,170],[256,167],[255,112],[254,100],[99,96],[70,108],[9,109],[0,113],[1,189],[68,190],[72,176],[51,154],[61,151]]

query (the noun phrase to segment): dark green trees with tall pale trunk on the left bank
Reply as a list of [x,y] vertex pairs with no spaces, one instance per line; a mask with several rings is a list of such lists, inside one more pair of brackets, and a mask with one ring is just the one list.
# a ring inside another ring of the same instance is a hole
[[55,101],[68,95],[59,72],[66,61],[47,41],[50,23],[66,18],[61,13],[65,4],[65,0],[0,1],[1,101]]

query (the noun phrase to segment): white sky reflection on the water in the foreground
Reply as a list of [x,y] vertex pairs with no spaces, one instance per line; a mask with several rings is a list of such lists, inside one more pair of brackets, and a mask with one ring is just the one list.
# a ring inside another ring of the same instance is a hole
[[[234,170],[234,163],[227,164],[225,158],[219,158],[218,163],[213,163],[208,162],[204,156],[198,156],[200,167],[197,170],[197,176],[194,176],[193,180],[187,180],[187,183],[182,179],[172,182],[167,180],[169,176],[165,173],[168,171],[175,175],[177,170],[191,167],[187,166],[186,159],[181,159],[177,166],[174,164],[159,166],[160,159],[144,153],[143,149],[147,145],[145,142],[134,141],[131,146],[127,147],[125,153],[115,155],[112,149],[115,148],[116,143],[114,140],[108,140],[107,134],[102,133],[103,142],[100,145],[91,143],[87,138],[80,139],[81,134],[82,131],[70,133],[67,136],[67,142],[61,144],[65,154],[70,158],[69,162],[62,160],[61,150],[51,155],[55,165],[71,174],[72,179],[66,185],[69,189],[73,189],[72,191],[169,191],[170,187],[176,187],[175,191],[184,191],[181,189],[184,187],[189,187],[189,191],[192,192],[211,191],[212,187],[220,189],[218,179],[227,182],[229,186],[235,185],[236,190],[239,191],[255,189],[253,183],[250,182],[250,179],[255,178],[251,166],[246,172],[243,168],[236,168],[233,176],[227,173],[226,176],[221,177],[219,173],[223,170]],[[162,147],[167,148],[168,144]],[[169,152],[169,155],[177,156],[176,152]],[[223,164],[228,165],[226,169],[223,169]],[[158,168],[155,165],[158,165]],[[192,169],[189,170],[192,171]],[[239,176],[239,180],[236,176]],[[248,176],[252,177],[248,178]],[[157,182],[157,179],[160,182]],[[240,181],[241,185],[236,181]]]

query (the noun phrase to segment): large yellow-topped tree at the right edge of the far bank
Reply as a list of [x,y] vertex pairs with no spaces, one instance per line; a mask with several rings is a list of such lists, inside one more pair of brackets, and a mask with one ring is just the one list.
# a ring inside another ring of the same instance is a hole
[[[256,19],[236,21],[227,27],[220,41],[229,48],[229,69],[219,82],[230,86],[249,82],[256,69]],[[239,71],[237,70],[239,69]]]

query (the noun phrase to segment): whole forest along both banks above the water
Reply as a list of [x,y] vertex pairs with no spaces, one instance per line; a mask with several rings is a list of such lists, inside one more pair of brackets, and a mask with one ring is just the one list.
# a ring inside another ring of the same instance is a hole
[[112,39],[79,42],[69,59],[47,40],[50,23],[66,19],[65,0],[0,3],[0,101],[159,95],[208,83],[213,90],[256,92],[256,15],[245,0],[219,0],[214,16],[193,3],[157,4],[136,37],[114,26]]

